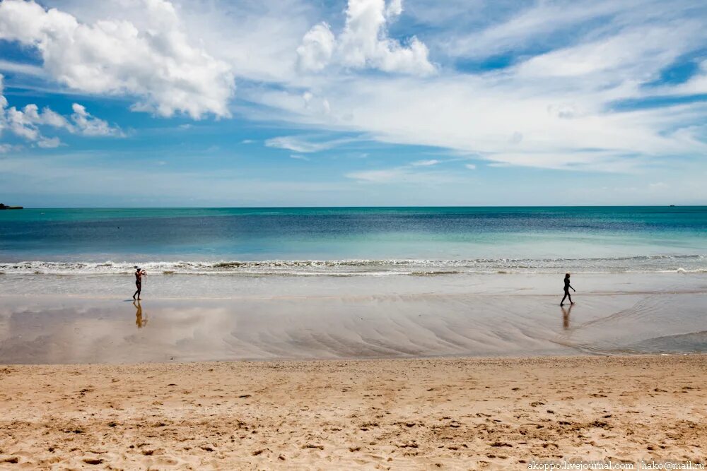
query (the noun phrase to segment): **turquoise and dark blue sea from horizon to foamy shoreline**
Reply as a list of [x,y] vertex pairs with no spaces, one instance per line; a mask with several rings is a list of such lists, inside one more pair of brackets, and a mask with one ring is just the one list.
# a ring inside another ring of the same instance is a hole
[[707,270],[707,207],[0,211],[0,271]]

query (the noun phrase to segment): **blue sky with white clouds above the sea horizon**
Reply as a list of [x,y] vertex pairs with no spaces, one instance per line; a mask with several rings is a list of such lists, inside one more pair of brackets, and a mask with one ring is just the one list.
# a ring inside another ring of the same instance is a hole
[[707,3],[1,0],[0,202],[707,204]]

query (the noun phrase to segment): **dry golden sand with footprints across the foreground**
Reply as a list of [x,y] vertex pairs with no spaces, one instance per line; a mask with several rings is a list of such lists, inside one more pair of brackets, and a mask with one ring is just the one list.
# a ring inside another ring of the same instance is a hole
[[7,469],[703,462],[707,356],[0,366]]

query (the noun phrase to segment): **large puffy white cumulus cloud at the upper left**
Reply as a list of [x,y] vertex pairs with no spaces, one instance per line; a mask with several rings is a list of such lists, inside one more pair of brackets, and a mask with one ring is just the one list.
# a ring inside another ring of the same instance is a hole
[[81,23],[33,0],[4,0],[0,39],[35,47],[49,76],[76,90],[132,95],[133,109],[165,117],[228,117],[234,90],[228,64],[189,43],[169,1],[142,1],[149,28],[127,20]]

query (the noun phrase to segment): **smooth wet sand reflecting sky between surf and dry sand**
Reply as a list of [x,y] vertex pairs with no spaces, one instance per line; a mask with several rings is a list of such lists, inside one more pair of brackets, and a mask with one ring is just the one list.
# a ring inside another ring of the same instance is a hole
[[163,276],[137,306],[120,278],[5,276],[0,363],[707,352],[707,275],[582,275],[563,307],[556,278]]

